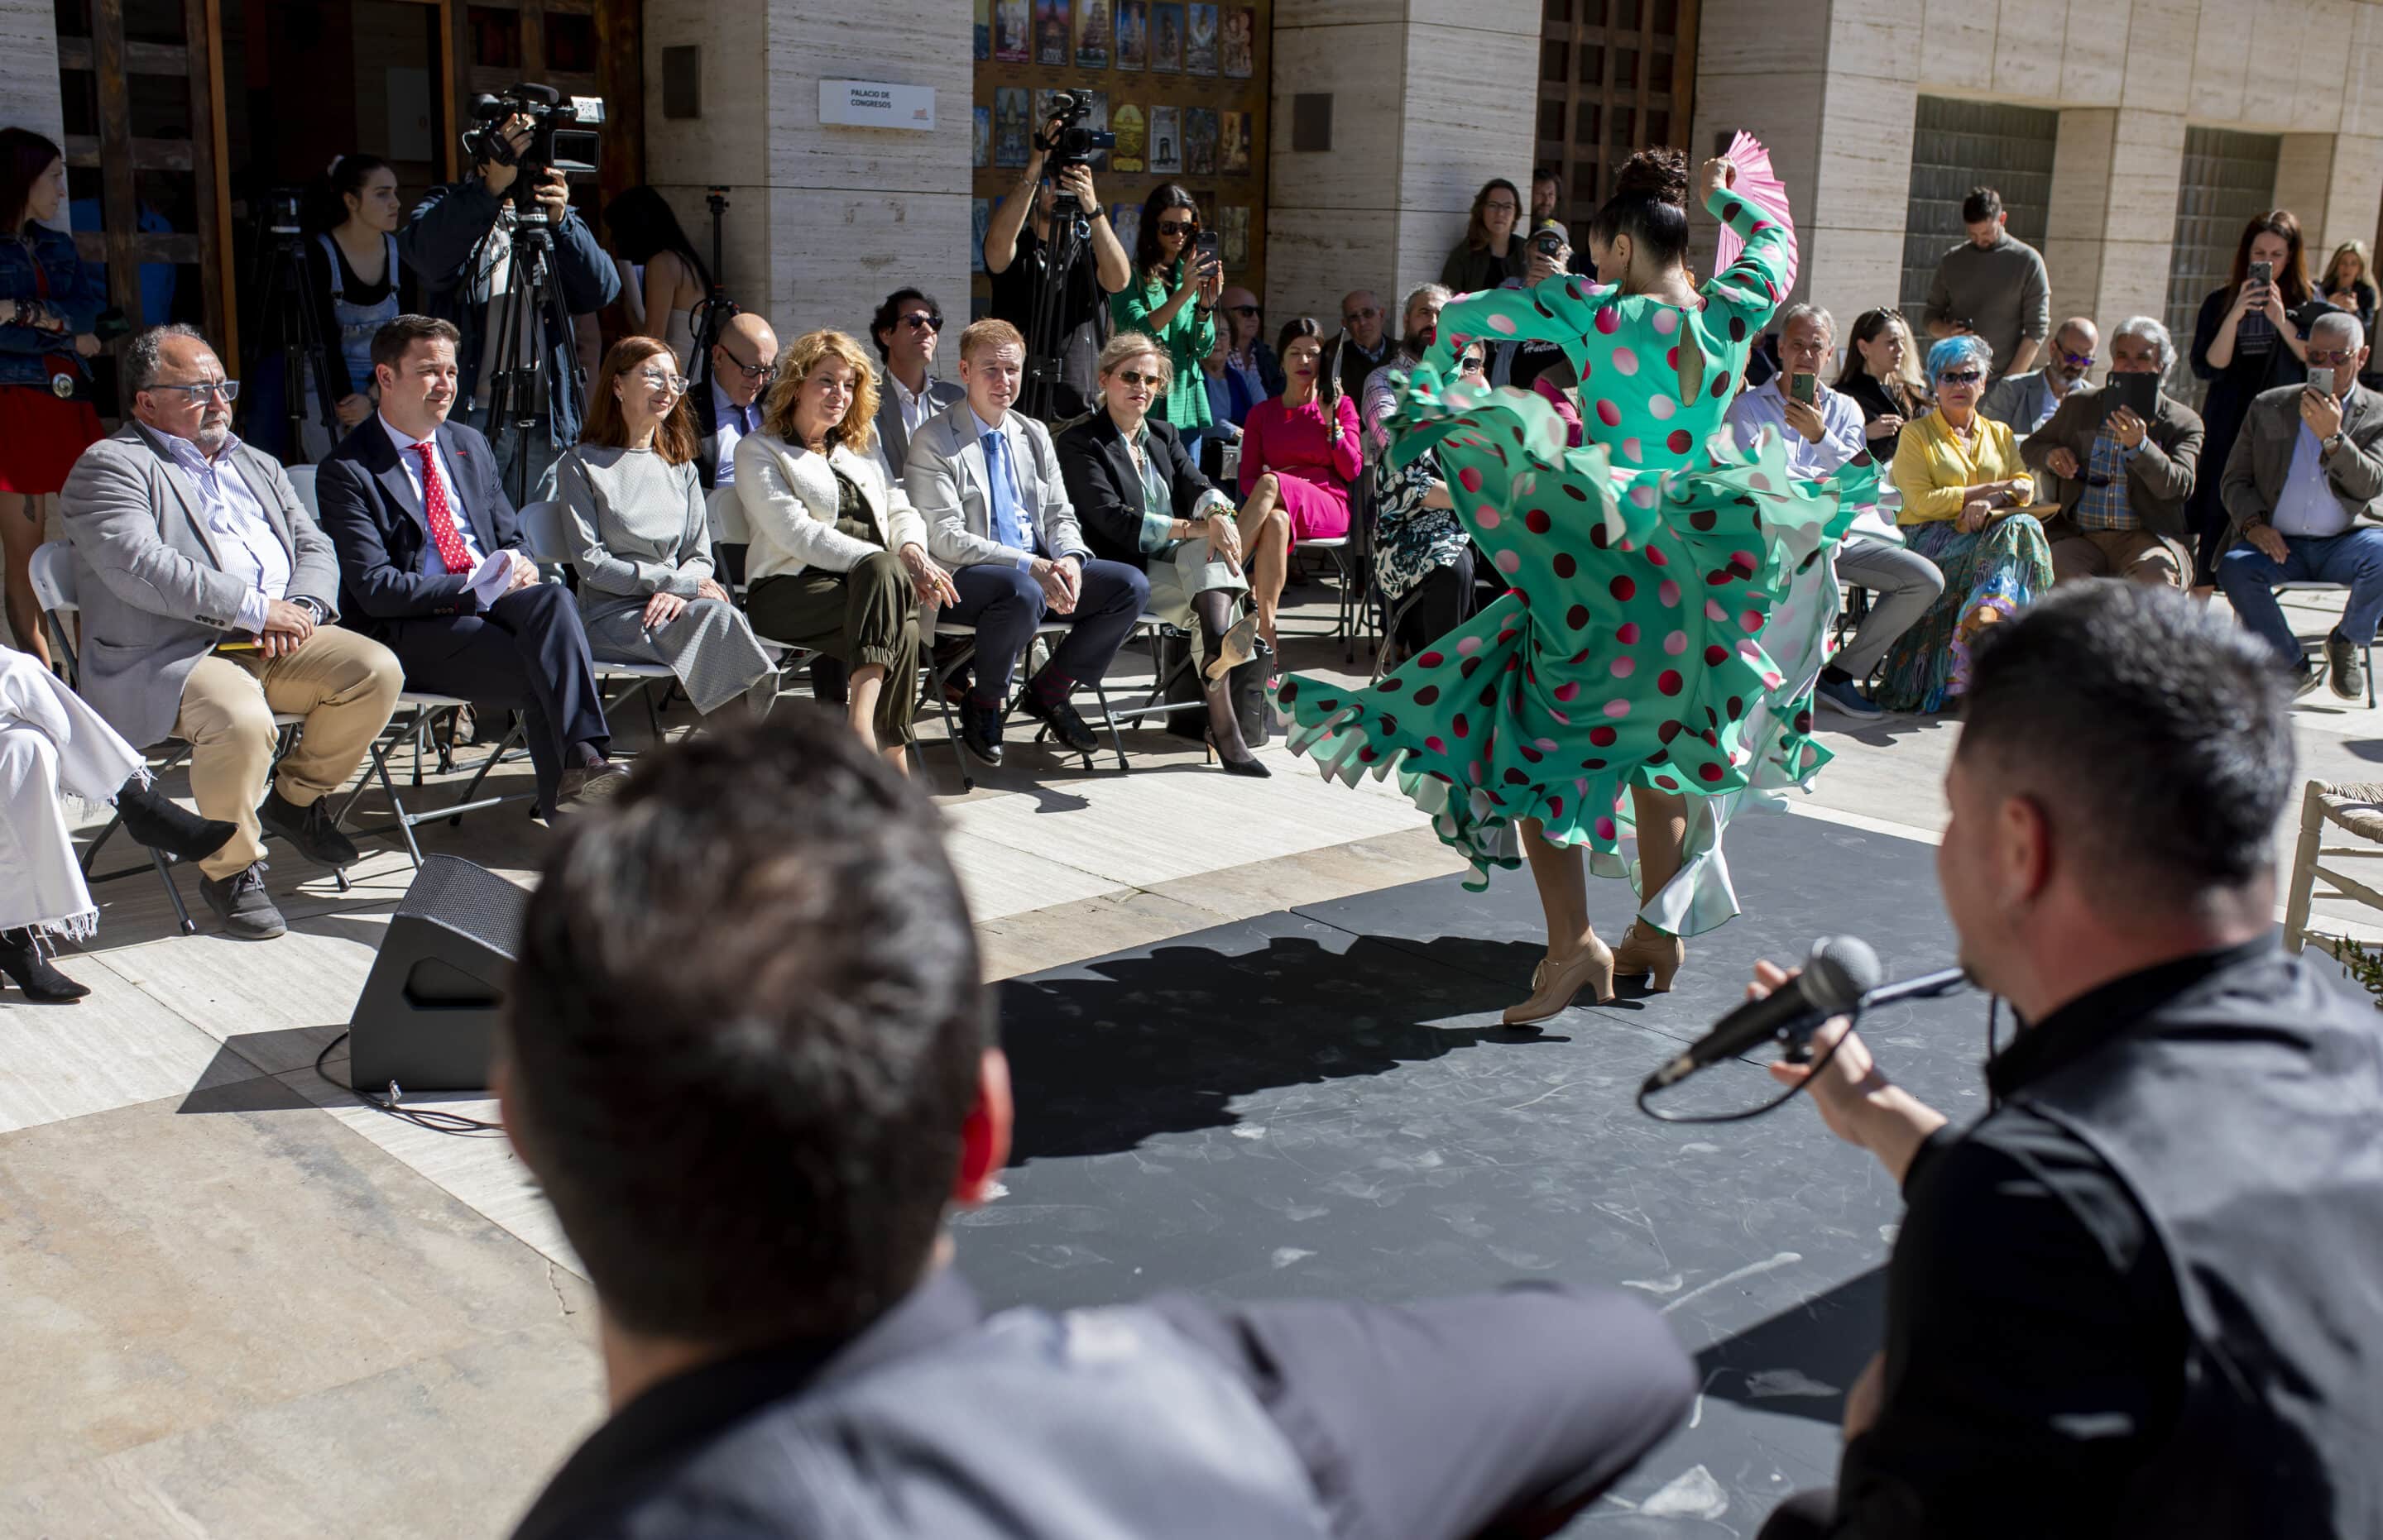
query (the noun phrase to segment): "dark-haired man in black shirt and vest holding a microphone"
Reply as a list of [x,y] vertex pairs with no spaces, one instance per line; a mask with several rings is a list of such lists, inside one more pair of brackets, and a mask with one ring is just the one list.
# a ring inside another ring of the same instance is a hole
[[1773,1066],[1906,1212],[1837,1488],[1763,1540],[2373,1533],[2383,1040],[2276,945],[2300,793],[2261,652],[2142,583],[1980,643],[1937,876],[2018,1038],[1966,1128],[1844,1019]]

